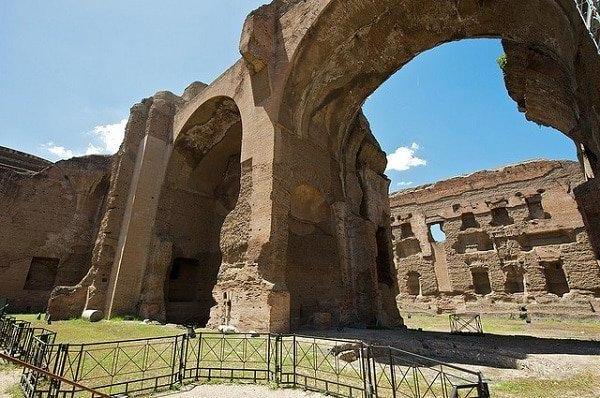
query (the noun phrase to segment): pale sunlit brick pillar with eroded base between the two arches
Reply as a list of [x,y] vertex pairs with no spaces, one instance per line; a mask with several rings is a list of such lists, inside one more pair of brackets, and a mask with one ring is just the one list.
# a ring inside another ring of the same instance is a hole
[[240,112],[240,194],[221,230],[223,257],[208,327],[228,324],[244,332],[287,332],[290,303],[281,250],[285,238],[278,226],[285,191],[273,174],[274,128],[260,108],[241,108]]

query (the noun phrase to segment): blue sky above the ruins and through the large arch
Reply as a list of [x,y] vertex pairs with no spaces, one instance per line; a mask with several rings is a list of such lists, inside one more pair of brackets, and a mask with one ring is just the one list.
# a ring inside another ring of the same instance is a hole
[[[243,20],[261,4],[0,1],[0,145],[51,160],[113,152],[131,105],[209,83],[236,61]],[[443,45],[367,100],[371,128],[394,154],[392,190],[526,159],[575,159],[565,136],[517,111],[501,53],[497,40]]]

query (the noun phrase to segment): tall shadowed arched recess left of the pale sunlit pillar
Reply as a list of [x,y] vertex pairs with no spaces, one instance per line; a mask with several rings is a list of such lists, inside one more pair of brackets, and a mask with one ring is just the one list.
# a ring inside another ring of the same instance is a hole
[[163,265],[167,322],[205,326],[216,304],[222,229],[240,193],[241,145],[240,112],[227,97],[200,107],[176,138],[155,224],[170,249]]

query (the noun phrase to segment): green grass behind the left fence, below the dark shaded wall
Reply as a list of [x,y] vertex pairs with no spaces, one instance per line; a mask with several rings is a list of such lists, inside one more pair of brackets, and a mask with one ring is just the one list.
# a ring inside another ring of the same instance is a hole
[[36,319],[35,314],[15,315],[15,317],[31,322],[33,327],[42,327],[56,332],[56,343],[94,343],[175,336],[185,333],[183,329],[146,325],[139,321],[123,321],[119,318],[95,323],[82,319],[72,319],[69,321],[53,321],[51,325],[48,325],[43,319]]

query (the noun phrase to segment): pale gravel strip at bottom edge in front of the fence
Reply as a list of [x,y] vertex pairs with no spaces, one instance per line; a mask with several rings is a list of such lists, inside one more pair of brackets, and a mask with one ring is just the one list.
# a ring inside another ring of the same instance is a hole
[[325,395],[295,389],[272,389],[242,384],[203,384],[189,391],[169,394],[176,398],[324,398]]

